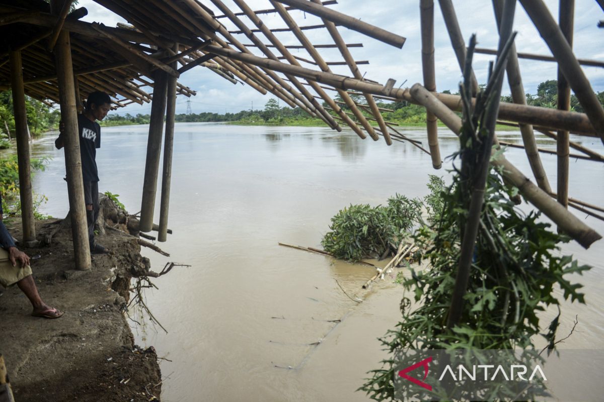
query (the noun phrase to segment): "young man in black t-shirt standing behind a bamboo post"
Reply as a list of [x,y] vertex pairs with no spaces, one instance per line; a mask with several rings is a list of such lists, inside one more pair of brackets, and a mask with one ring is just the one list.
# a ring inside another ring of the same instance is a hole
[[[93,254],[108,253],[109,251],[95,242],[94,222],[98,217],[98,171],[97,148],[101,146],[101,121],[111,108],[111,98],[104,92],[95,91],[88,95],[86,110],[78,115],[78,133],[80,137],[80,158],[82,159],[82,178],[84,181],[84,201],[86,203],[86,221],[88,221],[88,237],[90,251]],[[59,138],[54,145],[63,148],[63,127],[59,125]]]

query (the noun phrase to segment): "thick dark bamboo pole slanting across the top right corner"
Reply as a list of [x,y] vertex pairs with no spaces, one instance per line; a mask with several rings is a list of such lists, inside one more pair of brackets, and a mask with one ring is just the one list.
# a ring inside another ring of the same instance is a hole
[[552,54],[556,57],[558,67],[568,80],[575,96],[579,99],[585,114],[590,118],[597,136],[604,143],[604,108],[600,105],[590,81],[587,80],[581,66],[574,57],[573,49],[565,39],[564,33],[560,30],[542,0],[520,0],[520,2],[530,19],[533,20],[533,24],[535,24]]

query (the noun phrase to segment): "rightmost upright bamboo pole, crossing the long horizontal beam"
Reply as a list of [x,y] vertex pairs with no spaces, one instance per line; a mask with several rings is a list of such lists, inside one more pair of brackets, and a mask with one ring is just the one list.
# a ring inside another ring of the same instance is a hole
[[[559,17],[560,30],[567,40],[568,46],[573,48],[573,19],[574,19],[574,0],[560,0]],[[557,108],[559,110],[570,110],[570,84],[564,77],[564,73],[558,64],[558,99]],[[570,156],[570,135],[568,130],[558,130],[556,140],[557,151],[557,200],[565,208],[568,208],[568,162]]]

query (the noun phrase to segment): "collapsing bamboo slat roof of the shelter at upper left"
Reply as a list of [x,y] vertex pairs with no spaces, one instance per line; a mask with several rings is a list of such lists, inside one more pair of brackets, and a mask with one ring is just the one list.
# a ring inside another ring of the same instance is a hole
[[[95,1],[126,19],[128,24],[105,27],[79,21],[79,17],[86,13],[82,8],[66,17],[62,28],[71,32],[72,60],[81,99],[85,99],[92,90],[103,90],[112,96],[116,107],[133,102],[150,102],[157,71],[179,76],[195,66],[204,66],[233,83],[240,81],[261,93],[271,92],[291,107],[303,108],[338,131],[341,130],[340,123],[343,123],[352,127],[362,138],[369,134],[377,139],[379,133],[385,136],[387,143],[391,143],[391,130],[385,125],[371,95],[365,97],[365,106],[373,112],[372,119],[379,122],[379,128],[369,124],[361,113],[362,107],[355,104],[345,90],[338,90],[338,95],[352,110],[352,116],[341,110],[332,99],[335,96],[333,92],[326,92],[326,88],[333,91],[333,87],[320,86],[316,81],[300,78],[297,74],[276,72],[270,67],[237,60],[226,52],[260,56],[296,68],[302,68],[301,63],[306,63],[317,74],[330,73],[330,66],[345,65],[350,67],[350,76],[359,79],[362,77],[357,65],[369,61],[354,60],[349,48],[360,47],[362,43],[344,43],[336,26],[353,24],[357,30],[398,47],[402,47],[405,41],[403,37],[339,13],[332,18],[335,22],[324,19],[323,24],[298,25],[289,13],[291,7],[275,1],[271,1],[273,8],[252,11],[243,0],[234,1],[236,9],[227,7],[220,0],[208,0],[208,5],[220,10],[222,14],[219,15],[197,0]],[[313,6],[321,7],[320,1],[313,1]],[[336,1],[329,0],[323,4],[334,3]],[[267,13],[278,13],[287,28],[267,27],[262,21]],[[58,102],[54,55],[49,48],[53,31],[60,27],[58,14],[59,10],[53,13],[51,5],[42,0],[0,1],[0,34],[8,38],[0,49],[1,89],[10,87],[8,52],[20,49],[25,92],[41,101]],[[228,30],[226,26],[236,28]],[[332,40],[315,46],[304,32],[317,29],[329,31]],[[288,41],[288,45],[284,45],[277,37],[280,32],[294,34],[298,44],[292,45]],[[246,37],[245,42],[251,43],[240,42],[242,34]],[[178,52],[175,51],[175,43],[178,43]],[[339,48],[343,57],[326,60],[319,52],[323,48]],[[294,55],[290,49],[304,49],[307,55]],[[169,66],[175,60],[179,63],[178,71]],[[178,92],[185,96],[195,94],[182,84],[178,86]],[[335,111],[335,116],[327,109]],[[398,140],[403,139],[399,134],[394,135],[399,137]]]

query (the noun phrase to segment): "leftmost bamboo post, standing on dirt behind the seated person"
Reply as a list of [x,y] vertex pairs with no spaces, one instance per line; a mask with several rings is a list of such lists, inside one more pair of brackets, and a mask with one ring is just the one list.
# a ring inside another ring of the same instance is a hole
[[23,68],[21,51],[10,52],[10,78],[13,91],[14,128],[17,139],[17,158],[19,161],[19,195],[21,196],[21,219],[23,240],[25,243],[36,240],[36,222],[34,221],[34,203],[31,193],[30,142],[25,111],[25,90],[23,86]]

